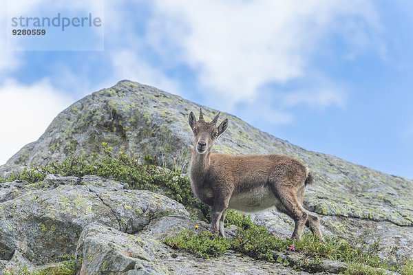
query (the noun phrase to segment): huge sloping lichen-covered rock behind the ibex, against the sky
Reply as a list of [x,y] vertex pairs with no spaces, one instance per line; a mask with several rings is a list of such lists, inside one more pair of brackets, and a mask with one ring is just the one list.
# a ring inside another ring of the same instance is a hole
[[[156,155],[167,166],[184,163],[192,142],[187,116],[203,107],[154,87],[123,80],[96,91],[60,113],[37,140],[23,147],[0,173],[30,164],[46,164],[67,157],[102,150],[102,142],[114,153]],[[351,164],[331,155],[305,151],[250,126],[229,113],[229,128],[215,151],[231,154],[281,153],[295,157],[313,170],[315,184],[306,195],[306,207],[324,215],[388,221],[413,225],[413,181]]]

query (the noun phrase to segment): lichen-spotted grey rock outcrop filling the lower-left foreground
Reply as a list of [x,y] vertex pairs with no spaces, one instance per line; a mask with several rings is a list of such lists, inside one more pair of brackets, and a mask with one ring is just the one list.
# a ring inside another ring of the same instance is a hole
[[163,239],[209,225],[177,201],[118,181],[48,175],[0,190],[8,194],[0,203],[0,273],[45,270],[75,254],[78,274],[308,274],[233,252],[206,260],[172,250]]

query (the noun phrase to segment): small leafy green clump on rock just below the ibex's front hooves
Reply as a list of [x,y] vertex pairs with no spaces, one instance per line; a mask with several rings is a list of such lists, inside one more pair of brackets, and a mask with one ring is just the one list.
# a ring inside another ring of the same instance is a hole
[[165,243],[178,250],[184,250],[202,258],[221,256],[230,247],[230,244],[222,236],[211,232],[183,231],[179,236],[166,238]]

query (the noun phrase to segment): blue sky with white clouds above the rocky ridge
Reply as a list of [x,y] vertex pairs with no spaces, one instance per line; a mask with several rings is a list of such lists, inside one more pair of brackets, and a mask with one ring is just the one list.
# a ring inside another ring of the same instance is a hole
[[[129,79],[413,179],[412,1],[0,2],[0,164],[76,100]],[[57,12],[102,24],[11,35],[15,14]]]

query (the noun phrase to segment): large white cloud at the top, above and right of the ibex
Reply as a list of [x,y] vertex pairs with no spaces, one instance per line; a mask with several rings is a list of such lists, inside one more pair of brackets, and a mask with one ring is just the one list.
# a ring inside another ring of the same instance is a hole
[[[198,72],[202,89],[234,106],[268,83],[308,77],[328,34],[343,36],[348,55],[377,42],[381,26],[368,1],[158,1],[149,41]],[[379,51],[383,52],[383,45]],[[315,85],[318,87],[319,85]],[[313,87],[313,88],[315,88]],[[311,87],[310,87],[311,89]],[[299,93],[289,102],[342,104],[342,91]],[[232,109],[232,108],[231,108]]]

